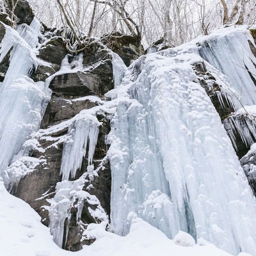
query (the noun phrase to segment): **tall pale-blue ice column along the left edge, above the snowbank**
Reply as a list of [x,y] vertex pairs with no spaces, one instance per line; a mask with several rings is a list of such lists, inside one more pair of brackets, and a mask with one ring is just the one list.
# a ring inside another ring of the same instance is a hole
[[40,23],[17,26],[16,31],[6,26],[0,44],[0,63],[10,51],[10,65],[0,83],[0,172],[19,152],[31,132],[40,125],[49,91],[44,83],[34,83],[29,72],[37,66],[36,46]]

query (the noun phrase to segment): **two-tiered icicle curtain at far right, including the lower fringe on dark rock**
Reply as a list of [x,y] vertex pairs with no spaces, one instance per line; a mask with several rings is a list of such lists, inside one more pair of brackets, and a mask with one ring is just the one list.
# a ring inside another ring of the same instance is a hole
[[[236,150],[239,150],[237,136],[247,148],[256,140],[256,58],[248,41],[254,45],[248,31],[237,29],[228,35],[220,34],[218,38],[209,36],[199,47],[200,55],[228,77],[232,90],[236,92],[234,96],[240,103],[239,109],[234,108],[236,113],[224,120],[225,129]],[[223,75],[219,76],[223,80]]]

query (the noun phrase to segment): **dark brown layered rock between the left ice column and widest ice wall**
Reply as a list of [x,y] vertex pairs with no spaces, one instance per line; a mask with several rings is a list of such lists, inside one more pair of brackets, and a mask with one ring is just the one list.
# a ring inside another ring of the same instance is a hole
[[[64,58],[66,52],[65,50],[62,51],[62,44],[55,44],[56,40],[52,42],[39,51],[39,58],[52,63],[52,66],[55,65],[56,69],[49,70],[50,72],[47,73],[44,70],[45,67],[38,68],[33,74],[35,79],[45,79],[52,72],[60,69],[61,57]],[[57,42],[61,42],[60,38],[57,38]],[[49,54],[52,47],[56,47],[56,51],[61,52],[61,54]],[[41,159],[42,164],[36,166],[35,170],[29,175],[22,177],[17,186],[12,189],[13,195],[28,202],[42,216],[42,222],[45,225],[49,225],[49,216],[45,208],[49,206],[48,200],[54,198],[56,184],[61,182],[62,179],[60,174],[61,157],[63,143],[65,143],[64,138],[67,137],[70,120],[83,109],[99,106],[102,101],[99,97],[113,88],[113,70],[109,52],[104,52],[103,60],[102,52],[99,54],[97,49],[84,58],[81,54],[80,56],[68,54],[65,58],[67,58],[67,65],[69,65],[70,70],[67,73],[54,74],[51,77],[49,88],[52,90],[52,97],[42,120],[42,129],[36,136],[38,145],[29,154],[31,157]],[[80,65],[79,63],[84,64],[77,67],[77,65]],[[72,71],[72,68],[75,71]],[[93,179],[85,180],[83,190],[90,193],[90,195],[96,196],[100,202],[100,207],[109,216],[111,172],[108,161],[102,162],[102,159],[106,156],[108,145],[105,143],[105,137],[110,131],[110,127],[106,115],[99,114],[97,119],[102,125],[99,128],[93,165],[95,169],[100,164],[101,166]],[[58,124],[62,126],[58,126]],[[88,159],[85,156],[81,169],[77,170],[76,177],[70,177],[69,180],[80,179],[87,172],[87,166]],[[65,220],[64,230],[68,231],[63,236],[65,237],[63,239],[63,248],[73,251],[81,250],[83,244],[93,242],[92,238],[89,240],[83,238],[83,241],[81,241],[83,231],[89,223],[99,221],[88,211],[88,209],[95,209],[95,204],[84,201],[81,219],[77,223],[78,210],[76,204],[75,202],[70,209],[70,218]]]

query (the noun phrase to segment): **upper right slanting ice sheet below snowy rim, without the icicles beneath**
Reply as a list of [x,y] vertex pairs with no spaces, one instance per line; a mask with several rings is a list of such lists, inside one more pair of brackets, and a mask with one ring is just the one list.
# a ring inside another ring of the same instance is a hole
[[230,84],[236,89],[243,105],[256,104],[252,79],[256,79],[256,58],[248,44],[248,40],[253,44],[253,38],[243,28],[227,28],[222,33],[218,36],[210,35],[202,42],[199,47],[200,55],[230,78]]

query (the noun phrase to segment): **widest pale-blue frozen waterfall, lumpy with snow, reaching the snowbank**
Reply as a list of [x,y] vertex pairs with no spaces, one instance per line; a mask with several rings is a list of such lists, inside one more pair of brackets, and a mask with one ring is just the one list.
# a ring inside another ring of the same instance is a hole
[[[255,199],[197,82],[196,61],[202,59],[192,45],[148,54],[113,91],[120,102],[109,135],[111,228],[127,234],[135,212],[169,237],[183,230],[230,253],[254,255]],[[249,92],[246,100],[253,100]]]

